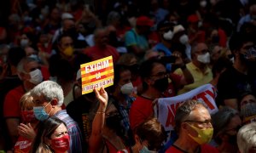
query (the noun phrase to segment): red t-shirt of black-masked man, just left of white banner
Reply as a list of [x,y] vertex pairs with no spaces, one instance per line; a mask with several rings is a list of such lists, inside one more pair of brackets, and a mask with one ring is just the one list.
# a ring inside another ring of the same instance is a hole
[[146,121],[153,114],[152,99],[138,96],[132,103],[129,119],[131,129],[134,130],[140,123]]

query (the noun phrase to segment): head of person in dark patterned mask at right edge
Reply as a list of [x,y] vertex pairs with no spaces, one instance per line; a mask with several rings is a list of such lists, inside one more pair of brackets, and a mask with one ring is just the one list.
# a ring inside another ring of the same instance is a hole
[[256,119],[256,97],[253,93],[245,92],[241,94],[240,102],[240,115],[242,123],[247,124],[255,122]]

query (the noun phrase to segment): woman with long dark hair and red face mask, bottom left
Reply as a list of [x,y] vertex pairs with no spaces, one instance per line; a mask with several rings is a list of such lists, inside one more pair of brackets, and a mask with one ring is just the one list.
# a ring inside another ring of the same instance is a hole
[[39,123],[31,152],[67,153],[69,149],[70,136],[65,122],[52,116]]

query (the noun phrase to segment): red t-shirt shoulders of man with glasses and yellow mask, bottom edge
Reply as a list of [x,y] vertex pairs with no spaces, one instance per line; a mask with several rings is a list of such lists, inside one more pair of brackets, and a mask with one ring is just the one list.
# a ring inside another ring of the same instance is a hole
[[[168,150],[166,150],[166,153],[183,153],[183,151],[171,146]],[[201,153],[218,153],[218,150],[209,144],[202,144]]]

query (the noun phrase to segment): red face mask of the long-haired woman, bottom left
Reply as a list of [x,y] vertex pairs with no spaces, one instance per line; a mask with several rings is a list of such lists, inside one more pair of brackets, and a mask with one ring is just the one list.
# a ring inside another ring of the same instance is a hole
[[64,135],[57,139],[51,139],[50,147],[55,150],[55,152],[65,152],[69,150],[69,135]]

